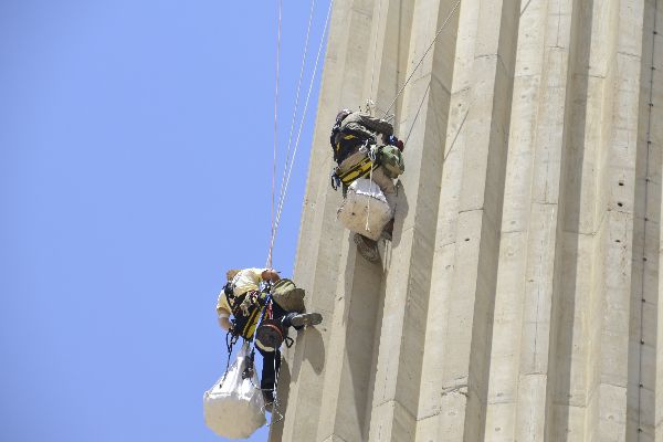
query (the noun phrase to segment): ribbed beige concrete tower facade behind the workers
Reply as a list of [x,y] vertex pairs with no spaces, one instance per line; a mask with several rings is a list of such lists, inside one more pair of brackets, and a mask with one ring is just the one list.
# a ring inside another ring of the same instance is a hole
[[[271,440],[663,442],[663,1],[335,1]],[[371,264],[328,134],[397,96]]]

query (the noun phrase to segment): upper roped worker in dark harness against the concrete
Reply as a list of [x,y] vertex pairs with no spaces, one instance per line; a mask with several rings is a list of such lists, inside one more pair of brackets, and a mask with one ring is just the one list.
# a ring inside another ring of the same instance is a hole
[[[357,178],[370,177],[385,193],[390,208],[394,208],[396,186],[393,179],[404,171],[403,143],[393,136],[391,123],[361,112],[343,109],[329,137],[337,167],[332,175],[332,186],[347,187]],[[371,171],[372,169],[372,171]],[[387,223],[382,238],[391,240],[393,219]],[[379,260],[378,243],[359,233],[354,241],[357,250],[369,261]]]

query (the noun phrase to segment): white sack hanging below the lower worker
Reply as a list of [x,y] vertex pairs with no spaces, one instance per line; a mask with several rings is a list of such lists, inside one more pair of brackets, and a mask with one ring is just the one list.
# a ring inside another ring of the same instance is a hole
[[243,379],[249,364],[249,343],[244,343],[228,372],[204,392],[204,423],[227,439],[246,439],[266,423],[265,401],[257,375]]

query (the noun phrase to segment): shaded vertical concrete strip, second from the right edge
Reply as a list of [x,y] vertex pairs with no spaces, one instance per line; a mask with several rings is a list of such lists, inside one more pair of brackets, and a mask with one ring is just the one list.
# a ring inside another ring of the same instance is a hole
[[[582,161],[589,88],[589,44],[591,41],[593,0],[575,6],[571,18],[567,113],[564,124],[561,154],[560,201],[555,252],[555,280],[552,288],[550,372],[547,381],[546,441],[567,441],[579,438],[569,434],[571,365],[573,356],[573,322],[576,314],[578,239],[580,235],[580,194],[582,189]],[[559,231],[559,230],[558,230]],[[568,265],[569,263],[570,265]],[[580,293],[580,296],[586,296]],[[564,439],[560,439],[564,438]]]

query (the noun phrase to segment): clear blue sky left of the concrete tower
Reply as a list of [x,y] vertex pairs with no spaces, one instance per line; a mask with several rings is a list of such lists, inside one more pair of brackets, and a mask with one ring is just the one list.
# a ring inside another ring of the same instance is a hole
[[[282,152],[311,6],[284,3]],[[202,393],[225,365],[224,272],[267,252],[276,11],[0,2],[0,440],[221,440]],[[286,275],[316,108],[317,85],[275,250]]]

